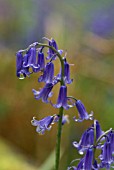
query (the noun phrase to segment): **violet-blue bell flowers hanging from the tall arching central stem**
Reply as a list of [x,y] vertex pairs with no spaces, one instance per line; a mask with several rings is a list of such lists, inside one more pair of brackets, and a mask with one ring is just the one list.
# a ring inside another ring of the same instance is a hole
[[[60,55],[62,55],[63,50],[58,49],[58,45],[54,39],[45,39],[48,41],[49,47],[53,47]],[[48,48],[47,55],[45,56],[43,52],[45,46],[42,45],[40,48],[38,48],[38,45],[39,43],[35,42],[31,44],[27,49],[19,50],[16,53],[17,77],[20,79],[24,79],[25,77],[29,77],[32,73],[40,72],[38,82],[44,82],[44,87],[38,91],[32,89],[36,100],[41,99],[44,103],[50,103],[55,108],[63,107],[65,110],[76,105],[77,110],[79,112],[79,119],[76,119],[74,117],[75,121],[83,121],[84,119],[90,119],[92,114],[89,115],[87,113],[83,103],[80,100],[76,100],[74,104],[68,104],[69,97],[67,96],[67,84],[71,84],[73,80],[70,78],[70,64],[68,63],[66,56],[63,56],[61,58],[64,64],[64,75],[62,75],[62,68],[60,68],[60,72],[57,75],[54,75],[55,66],[53,61],[57,58],[56,51],[51,48]],[[61,84],[61,81],[63,81],[63,84]],[[49,98],[52,97],[52,89],[57,83],[60,83],[61,85],[59,89],[57,103],[53,104],[51,100],[49,100]],[[40,122],[33,118],[32,125],[36,126],[36,124],[38,124],[36,131],[40,134],[43,134],[45,130],[50,129],[52,123],[55,123],[53,119],[53,116],[48,116],[46,118],[43,118]]]

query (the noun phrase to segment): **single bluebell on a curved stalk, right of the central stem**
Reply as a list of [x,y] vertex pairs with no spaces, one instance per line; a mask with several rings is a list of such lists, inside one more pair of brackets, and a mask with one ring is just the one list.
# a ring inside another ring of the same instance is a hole
[[75,121],[82,122],[83,120],[88,120],[88,119],[92,120],[93,119],[93,112],[88,114],[84,104],[80,100],[77,100],[75,105],[76,105],[76,108],[77,108],[78,114],[79,114],[79,119],[76,119],[76,117],[74,117]]

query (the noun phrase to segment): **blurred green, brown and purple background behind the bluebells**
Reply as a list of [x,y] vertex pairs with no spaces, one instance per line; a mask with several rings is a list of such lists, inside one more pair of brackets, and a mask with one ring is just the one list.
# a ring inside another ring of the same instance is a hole
[[[16,77],[15,53],[42,37],[67,51],[73,84],[68,94],[94,111],[102,129],[114,129],[114,0],[0,0],[0,170],[52,170],[57,125],[39,136],[31,119],[58,110],[34,100],[38,75]],[[58,65],[56,70],[59,70]],[[58,89],[55,89],[56,100]],[[75,108],[62,132],[60,169],[79,158],[72,146],[92,122],[75,123]]]

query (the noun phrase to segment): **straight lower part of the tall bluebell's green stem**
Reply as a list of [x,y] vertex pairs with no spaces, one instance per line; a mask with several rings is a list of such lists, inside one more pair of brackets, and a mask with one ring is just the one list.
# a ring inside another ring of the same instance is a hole
[[57,132],[57,140],[56,140],[55,170],[58,170],[58,169],[59,169],[63,110],[64,110],[63,107],[61,107],[61,108],[59,109],[60,119],[59,119],[59,122],[58,122],[58,132]]

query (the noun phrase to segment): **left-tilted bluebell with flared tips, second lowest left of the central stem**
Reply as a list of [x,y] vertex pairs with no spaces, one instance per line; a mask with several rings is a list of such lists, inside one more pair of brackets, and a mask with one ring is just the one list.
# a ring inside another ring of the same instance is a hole
[[34,97],[36,100],[42,99],[42,102],[49,103],[48,97],[52,96],[52,90],[53,84],[47,83],[44,88],[42,88],[40,91],[36,91],[35,89],[32,90]]

